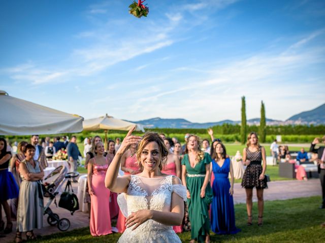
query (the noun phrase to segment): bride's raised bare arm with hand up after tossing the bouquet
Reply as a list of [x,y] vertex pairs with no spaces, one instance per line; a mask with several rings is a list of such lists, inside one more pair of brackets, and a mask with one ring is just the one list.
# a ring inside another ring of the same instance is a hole
[[130,181],[130,176],[117,177],[121,164],[121,157],[128,147],[132,144],[137,144],[141,137],[132,135],[135,127],[128,131],[126,137],[123,139],[121,146],[117,150],[111,165],[107,169],[105,177],[105,186],[114,192],[125,192]]

